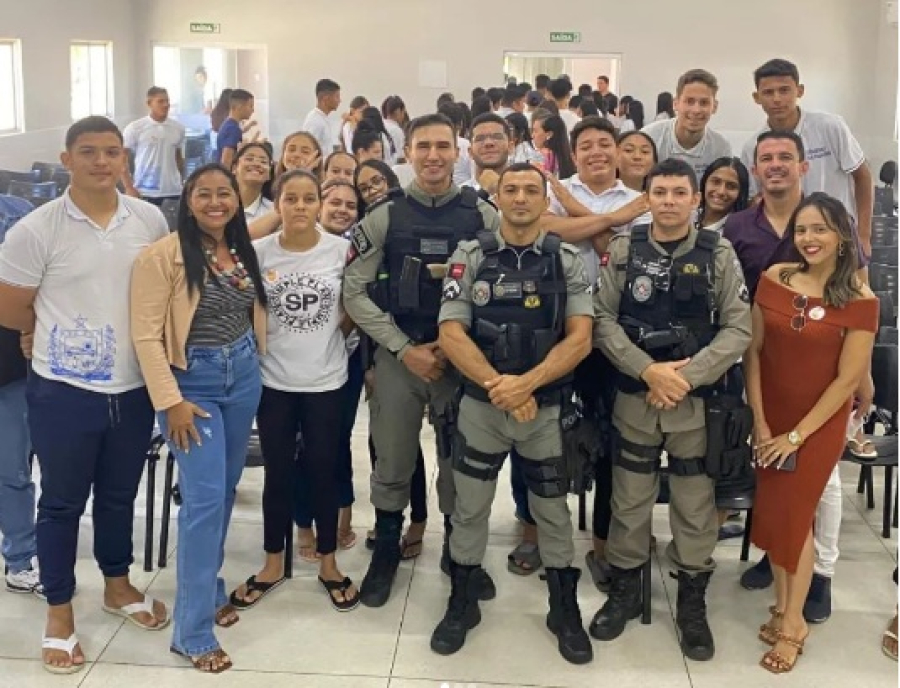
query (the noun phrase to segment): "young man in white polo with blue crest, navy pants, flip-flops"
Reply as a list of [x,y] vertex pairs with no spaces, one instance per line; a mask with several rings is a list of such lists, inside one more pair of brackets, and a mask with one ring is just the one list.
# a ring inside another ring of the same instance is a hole
[[62,162],[72,175],[68,191],[20,221],[0,246],[0,325],[34,335],[27,400],[41,465],[38,561],[50,605],[43,662],[72,673],[84,666],[71,599],[78,525],[92,491],[103,609],[148,630],[169,620],[163,604],[128,580],[134,499],[153,429],[131,345],[128,285],[141,249],[169,232],[158,208],[116,191],[125,150],[105,117],[69,128]]

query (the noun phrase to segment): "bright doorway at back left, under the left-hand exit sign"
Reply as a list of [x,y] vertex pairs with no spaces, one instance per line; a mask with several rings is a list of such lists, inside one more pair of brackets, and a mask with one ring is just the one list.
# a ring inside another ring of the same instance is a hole
[[222,90],[254,96],[253,119],[269,131],[269,69],[265,47],[153,46],[153,83],[169,92],[171,116],[189,133],[210,131],[209,113]]

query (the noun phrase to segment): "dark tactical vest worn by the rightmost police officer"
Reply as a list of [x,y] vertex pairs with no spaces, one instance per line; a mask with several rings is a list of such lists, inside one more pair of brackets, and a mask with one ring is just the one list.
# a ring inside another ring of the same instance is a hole
[[[654,361],[693,356],[719,331],[714,293],[718,243],[718,232],[701,229],[694,247],[673,258],[650,243],[649,225],[631,230],[619,324]],[[646,391],[647,386],[642,380],[620,375],[619,389],[637,393]],[[700,388],[691,394],[705,396],[709,391]]]

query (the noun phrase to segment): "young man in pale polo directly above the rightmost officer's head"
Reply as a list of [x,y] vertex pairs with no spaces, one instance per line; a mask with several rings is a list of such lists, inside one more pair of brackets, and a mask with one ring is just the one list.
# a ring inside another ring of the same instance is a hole
[[656,143],[660,162],[684,160],[697,179],[722,157],[731,156],[728,139],[709,127],[719,107],[719,82],[705,69],[691,69],[678,79],[675,89],[675,119],[651,122],[643,131]]

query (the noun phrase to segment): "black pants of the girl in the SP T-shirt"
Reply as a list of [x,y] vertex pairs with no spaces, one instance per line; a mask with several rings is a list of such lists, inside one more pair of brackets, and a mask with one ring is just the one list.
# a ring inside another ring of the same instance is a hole
[[[335,465],[340,449],[344,392],[281,392],[263,387],[256,413],[266,466],[263,487],[263,543],[266,552],[284,551],[291,527],[295,471],[309,485],[317,531],[316,551],[337,549],[338,491]],[[304,450],[297,461],[297,433]]]

